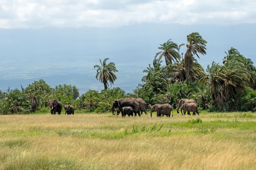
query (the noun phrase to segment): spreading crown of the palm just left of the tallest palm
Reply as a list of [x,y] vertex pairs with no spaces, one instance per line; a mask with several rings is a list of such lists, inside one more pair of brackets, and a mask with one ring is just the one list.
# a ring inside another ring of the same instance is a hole
[[179,61],[181,58],[179,53],[179,46],[170,40],[164,42],[164,44],[160,44],[160,47],[158,47],[158,49],[161,49],[163,51],[159,51],[155,54],[155,57],[159,55],[159,61],[162,59],[163,56],[165,57],[166,66],[168,64],[173,64],[173,62]]

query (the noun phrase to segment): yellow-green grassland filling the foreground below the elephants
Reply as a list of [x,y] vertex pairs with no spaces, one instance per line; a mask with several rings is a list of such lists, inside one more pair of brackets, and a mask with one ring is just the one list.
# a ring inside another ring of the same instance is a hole
[[1,115],[0,170],[255,170],[256,113]]

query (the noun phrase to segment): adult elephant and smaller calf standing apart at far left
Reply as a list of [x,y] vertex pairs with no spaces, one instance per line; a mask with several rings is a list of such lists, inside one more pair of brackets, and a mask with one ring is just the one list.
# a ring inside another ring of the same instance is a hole
[[[55,115],[56,112],[58,115],[61,115],[61,110],[62,110],[62,103],[59,102],[57,99],[49,99],[48,100],[48,106],[51,109],[51,114]],[[64,105],[65,109],[65,115],[74,115],[75,108],[71,105]]]

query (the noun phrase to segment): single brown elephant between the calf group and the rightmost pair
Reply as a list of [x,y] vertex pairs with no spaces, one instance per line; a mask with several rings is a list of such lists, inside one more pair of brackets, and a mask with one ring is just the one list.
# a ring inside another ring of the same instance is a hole
[[[153,112],[157,112],[157,117],[162,117],[166,115],[166,117],[170,117],[171,111],[173,107],[170,104],[155,104],[150,109],[150,116],[152,117]],[[173,115],[172,115],[173,117]]]

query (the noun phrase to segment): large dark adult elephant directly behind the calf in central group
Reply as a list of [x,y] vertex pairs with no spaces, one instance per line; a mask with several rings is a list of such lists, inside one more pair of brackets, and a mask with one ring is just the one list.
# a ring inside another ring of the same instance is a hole
[[123,99],[115,99],[112,103],[112,107],[109,109],[112,109],[112,115],[115,115],[114,114],[115,108],[119,108],[121,110],[121,108],[126,107],[126,106],[132,107],[133,113],[135,116],[137,116],[137,113],[140,116],[139,102],[133,97],[123,98]]

